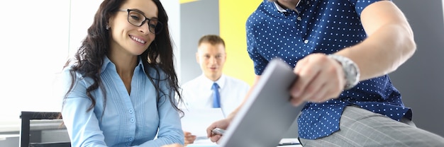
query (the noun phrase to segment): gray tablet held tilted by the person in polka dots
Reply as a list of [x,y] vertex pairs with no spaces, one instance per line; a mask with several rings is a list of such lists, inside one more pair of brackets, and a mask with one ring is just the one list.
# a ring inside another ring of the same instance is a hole
[[305,105],[294,107],[289,102],[289,88],[296,79],[292,67],[281,59],[272,59],[219,145],[277,146]]

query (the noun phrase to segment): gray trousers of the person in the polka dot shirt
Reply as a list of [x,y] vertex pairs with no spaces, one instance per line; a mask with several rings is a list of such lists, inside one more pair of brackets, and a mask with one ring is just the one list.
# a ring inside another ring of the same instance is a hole
[[339,131],[320,139],[299,139],[302,146],[444,146],[444,138],[419,129],[409,119],[395,121],[382,114],[347,106]]

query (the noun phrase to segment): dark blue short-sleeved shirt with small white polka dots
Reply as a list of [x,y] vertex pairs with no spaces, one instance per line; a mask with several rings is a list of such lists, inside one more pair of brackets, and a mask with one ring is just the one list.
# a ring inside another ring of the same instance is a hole
[[[296,10],[284,9],[267,0],[246,22],[248,54],[255,73],[261,75],[271,59],[290,66],[311,53],[332,54],[367,37],[360,23],[362,10],[379,0],[301,0]],[[411,119],[401,94],[388,75],[360,81],[339,98],[307,103],[298,118],[299,137],[318,139],[338,131],[344,107],[357,105],[395,120]],[[297,114],[298,112],[294,112]]]

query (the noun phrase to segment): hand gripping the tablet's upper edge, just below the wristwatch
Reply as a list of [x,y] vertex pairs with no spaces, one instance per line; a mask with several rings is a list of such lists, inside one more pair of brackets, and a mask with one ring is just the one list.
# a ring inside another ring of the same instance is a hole
[[325,102],[337,98],[345,86],[342,66],[326,54],[310,54],[294,68],[299,78],[290,90],[292,105],[304,101]]

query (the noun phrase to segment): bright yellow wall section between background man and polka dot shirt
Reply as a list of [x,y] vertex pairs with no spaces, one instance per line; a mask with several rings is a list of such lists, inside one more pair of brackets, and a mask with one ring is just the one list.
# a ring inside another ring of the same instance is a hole
[[226,42],[227,61],[223,73],[250,83],[255,78],[248,57],[245,23],[262,0],[219,0],[220,35]]

